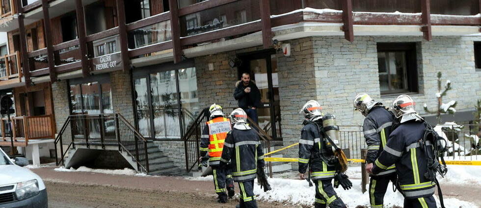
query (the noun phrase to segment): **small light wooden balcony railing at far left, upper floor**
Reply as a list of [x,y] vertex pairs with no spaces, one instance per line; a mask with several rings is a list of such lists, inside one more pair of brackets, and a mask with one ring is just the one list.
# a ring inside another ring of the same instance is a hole
[[[1,1],[0,1],[1,2]],[[20,53],[0,56],[0,80],[18,78],[22,81],[22,67],[20,65]]]

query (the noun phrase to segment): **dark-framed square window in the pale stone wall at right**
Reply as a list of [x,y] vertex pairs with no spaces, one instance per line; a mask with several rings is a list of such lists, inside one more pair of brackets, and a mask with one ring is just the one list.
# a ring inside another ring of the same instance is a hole
[[381,94],[418,92],[416,43],[377,43]]

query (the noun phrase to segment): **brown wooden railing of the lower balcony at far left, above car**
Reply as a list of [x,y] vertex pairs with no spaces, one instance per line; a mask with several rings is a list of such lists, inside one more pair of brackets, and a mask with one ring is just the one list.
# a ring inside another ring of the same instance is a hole
[[17,116],[0,119],[1,135],[0,144],[10,145],[13,139],[14,146],[27,146],[29,139],[55,138],[55,123],[52,115],[46,116]]

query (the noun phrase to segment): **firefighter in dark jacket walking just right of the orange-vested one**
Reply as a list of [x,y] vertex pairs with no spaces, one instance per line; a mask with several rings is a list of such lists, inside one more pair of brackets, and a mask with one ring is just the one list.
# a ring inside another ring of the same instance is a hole
[[[231,161],[232,176],[239,183],[240,204],[238,208],[257,208],[254,179],[258,169],[264,169],[264,153],[257,133],[247,124],[247,115],[241,108],[234,110],[230,119],[232,130],[224,142],[221,166]],[[262,171],[263,172],[263,171]]]

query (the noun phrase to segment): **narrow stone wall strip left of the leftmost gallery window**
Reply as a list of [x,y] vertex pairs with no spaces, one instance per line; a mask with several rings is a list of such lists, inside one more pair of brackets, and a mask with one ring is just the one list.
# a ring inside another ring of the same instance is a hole
[[53,112],[58,133],[69,116],[68,86],[65,80],[52,83]]

